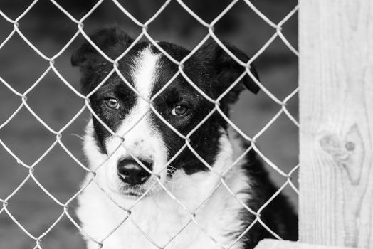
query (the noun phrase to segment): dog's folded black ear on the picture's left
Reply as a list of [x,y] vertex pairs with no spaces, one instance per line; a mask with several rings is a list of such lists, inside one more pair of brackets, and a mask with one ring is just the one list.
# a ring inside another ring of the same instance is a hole
[[[101,28],[92,33],[89,37],[101,51],[113,60],[122,54],[133,41],[127,33],[121,31],[117,27]],[[85,41],[71,56],[71,64],[73,66],[79,66],[82,70],[104,61],[105,58],[103,55],[88,41]]]

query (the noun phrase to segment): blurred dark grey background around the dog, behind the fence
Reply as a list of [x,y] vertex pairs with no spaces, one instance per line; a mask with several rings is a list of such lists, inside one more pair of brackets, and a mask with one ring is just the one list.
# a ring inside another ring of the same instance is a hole
[[[16,19],[31,4],[29,0],[1,0],[0,11],[9,18]],[[75,18],[82,18],[95,5],[93,0],[59,0]],[[147,21],[160,6],[162,0],[119,1],[139,21]],[[211,22],[226,6],[228,0],[185,0],[191,10],[204,21]],[[278,23],[297,4],[296,0],[252,0],[271,21]],[[87,33],[102,26],[117,24],[131,36],[137,37],[141,28],[127,18],[112,1],[104,1],[98,9],[84,21]],[[297,48],[297,15],[290,18],[283,26],[283,33],[288,41]],[[56,55],[65,46],[78,28],[73,21],[56,8],[50,1],[38,1],[33,8],[19,20],[19,28],[26,38],[38,50],[48,57]],[[0,16],[0,44],[13,31],[13,24]],[[187,11],[172,1],[169,6],[149,25],[148,29],[154,40],[177,43],[186,48],[194,48],[208,33],[204,26],[190,16]],[[254,55],[273,36],[275,29],[263,21],[244,1],[238,1],[233,9],[216,23],[216,36],[241,48],[247,55]],[[56,68],[74,88],[79,89],[79,72],[70,65],[70,55],[83,41],[79,35],[73,43],[56,59]],[[285,46],[280,38],[266,48],[254,61],[261,78],[261,83],[280,100],[293,92],[298,85],[298,58]],[[25,41],[15,33],[0,48],[0,77],[19,92],[25,92],[47,70],[49,63],[41,58]],[[51,128],[58,130],[67,124],[84,102],[70,90],[53,71],[45,77],[27,95],[27,103],[41,119]],[[3,124],[21,105],[21,98],[14,95],[0,82],[0,125]],[[258,95],[244,92],[241,100],[234,107],[233,122],[246,134],[253,137],[280,110],[280,105],[261,91]],[[288,102],[288,110],[298,120],[298,95]],[[84,127],[89,118],[83,112],[68,129],[63,132],[62,142],[80,161],[85,161],[82,151]],[[6,126],[0,129],[0,139],[28,165],[38,160],[56,141],[56,136],[36,120],[23,107]],[[298,127],[284,114],[278,117],[266,132],[258,138],[261,152],[273,161],[282,171],[288,173],[298,164]],[[266,166],[276,184],[282,186],[286,179],[270,166]],[[65,203],[79,189],[85,171],[71,159],[59,144],[43,157],[35,167],[36,179],[58,201]],[[28,169],[17,164],[16,159],[0,146],[0,199],[4,200],[26,179]],[[298,186],[298,171],[293,182]],[[289,186],[283,190],[295,208],[298,196]],[[70,204],[69,213],[76,219],[74,208]],[[63,212],[33,179],[16,191],[7,206],[11,215],[21,223],[31,235],[38,237],[52,226]],[[35,240],[29,238],[19,226],[3,211],[0,213],[0,248],[23,249],[34,248]],[[42,239],[43,249],[84,248],[78,229],[68,218],[60,222]]]

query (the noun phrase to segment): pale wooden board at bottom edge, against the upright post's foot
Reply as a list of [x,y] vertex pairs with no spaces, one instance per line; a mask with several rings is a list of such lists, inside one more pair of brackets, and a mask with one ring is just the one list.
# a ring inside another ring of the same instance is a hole
[[340,246],[312,245],[283,240],[261,240],[255,249],[352,249]]

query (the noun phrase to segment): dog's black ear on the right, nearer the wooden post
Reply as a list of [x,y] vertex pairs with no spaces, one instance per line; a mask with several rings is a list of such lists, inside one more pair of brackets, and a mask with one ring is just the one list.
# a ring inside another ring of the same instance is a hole
[[[229,51],[231,51],[231,53],[233,53],[233,55],[236,56],[236,58],[238,58],[238,60],[241,60],[243,63],[248,62],[249,58],[245,53],[226,42],[223,44],[226,46],[226,48],[228,48]],[[216,68],[218,84],[216,87],[221,89],[219,90],[220,94],[229,88],[229,86],[233,84],[235,80],[246,70],[245,67],[238,64],[236,60],[228,55],[228,53],[226,53],[226,51],[224,51],[224,49],[215,42],[207,43],[206,45],[202,46],[199,51],[196,52],[196,55],[202,60],[209,61],[209,63],[212,63],[214,68]],[[256,73],[253,64],[251,64],[250,71],[256,79],[259,79],[258,73]],[[245,88],[255,94],[260,90],[259,86],[253,81],[253,79],[246,74],[242,78],[241,82],[238,83],[236,87],[234,87],[226,96],[228,97],[228,102],[236,102],[238,95]]]

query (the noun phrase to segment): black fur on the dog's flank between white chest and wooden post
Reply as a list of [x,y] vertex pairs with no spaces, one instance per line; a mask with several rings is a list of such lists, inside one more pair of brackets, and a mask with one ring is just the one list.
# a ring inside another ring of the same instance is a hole
[[[244,145],[245,146],[245,145]],[[245,147],[249,147],[246,144]],[[253,150],[246,156],[248,163],[244,166],[246,174],[251,177],[251,188],[248,189],[248,194],[251,198],[246,205],[252,211],[258,211],[278,190],[270,181],[268,172],[263,169],[263,164],[257,159],[257,154]],[[284,240],[298,240],[298,216],[295,214],[293,207],[288,199],[279,194],[276,196],[266,208],[259,214],[261,221],[270,228],[275,234],[279,235]],[[251,226],[256,216],[247,211],[245,208],[241,210],[241,220],[245,221],[246,228]],[[238,237],[243,231],[236,231]],[[243,236],[245,249],[252,249],[264,238],[275,238],[261,223],[254,224],[250,231]]]

